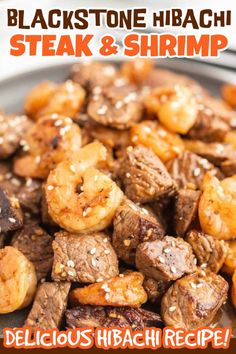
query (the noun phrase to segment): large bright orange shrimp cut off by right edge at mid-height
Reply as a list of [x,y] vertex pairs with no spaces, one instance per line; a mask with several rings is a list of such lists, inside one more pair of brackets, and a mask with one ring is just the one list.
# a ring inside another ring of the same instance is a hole
[[236,176],[219,181],[207,173],[199,203],[203,231],[221,240],[236,237]]

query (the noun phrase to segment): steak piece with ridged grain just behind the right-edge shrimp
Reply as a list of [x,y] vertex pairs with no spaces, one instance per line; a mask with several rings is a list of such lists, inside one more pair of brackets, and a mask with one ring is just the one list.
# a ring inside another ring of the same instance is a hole
[[168,171],[179,188],[186,188],[191,184],[200,189],[208,171],[221,177],[220,171],[213,164],[190,151],[184,151],[179,157],[171,160],[168,163]]

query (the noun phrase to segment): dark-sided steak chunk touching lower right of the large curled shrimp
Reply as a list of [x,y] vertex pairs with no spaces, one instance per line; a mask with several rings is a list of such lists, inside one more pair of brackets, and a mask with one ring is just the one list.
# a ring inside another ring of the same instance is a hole
[[114,217],[112,246],[119,258],[134,264],[137,246],[148,240],[162,238],[165,229],[153,212],[124,199]]

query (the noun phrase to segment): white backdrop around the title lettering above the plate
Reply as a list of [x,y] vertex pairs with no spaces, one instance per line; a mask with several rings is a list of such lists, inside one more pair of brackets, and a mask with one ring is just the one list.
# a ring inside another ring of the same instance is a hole
[[[75,59],[71,59],[68,57],[27,57],[26,55],[21,57],[13,57],[9,55],[10,44],[9,40],[10,37],[15,33],[24,33],[29,34],[29,31],[18,30],[17,28],[7,28],[7,12],[6,10],[9,8],[17,8],[17,9],[24,9],[26,13],[25,21],[32,20],[34,11],[36,8],[41,8],[45,11],[51,8],[60,8],[60,9],[76,9],[76,8],[128,8],[128,7],[147,7],[149,12],[151,10],[158,11],[159,9],[163,8],[170,8],[170,7],[182,7],[183,9],[194,8],[195,13],[197,15],[199,9],[203,8],[211,8],[212,10],[232,10],[232,26],[225,27],[225,28],[212,28],[212,29],[205,29],[205,30],[193,30],[190,27],[187,29],[182,29],[185,33],[194,33],[199,35],[200,33],[222,33],[228,37],[229,44],[232,48],[236,49],[236,0],[133,0],[133,1],[125,1],[125,0],[103,0],[103,1],[96,1],[96,0],[0,0],[0,80],[6,77],[15,75],[19,72],[33,70],[36,67],[42,67],[46,65],[53,65],[54,63],[62,63],[66,61],[71,61]],[[169,30],[169,29],[168,29]],[[176,31],[176,29],[175,29]],[[124,32],[122,31],[112,31],[106,28],[96,29],[91,24],[89,29],[83,31],[83,33],[91,33],[95,34],[95,41],[94,41],[94,52],[96,52],[97,41],[101,34],[104,33],[111,33],[113,35],[122,36]],[[46,30],[43,31],[39,27],[30,30],[30,34],[37,33],[37,34],[62,34],[62,30]],[[64,31],[66,33],[73,33],[73,31]],[[78,33],[78,31],[76,32]],[[82,32],[80,32],[82,33]],[[232,62],[236,61],[232,58],[229,60]],[[219,60],[223,61],[224,55]],[[227,58],[228,59],[228,58]]]

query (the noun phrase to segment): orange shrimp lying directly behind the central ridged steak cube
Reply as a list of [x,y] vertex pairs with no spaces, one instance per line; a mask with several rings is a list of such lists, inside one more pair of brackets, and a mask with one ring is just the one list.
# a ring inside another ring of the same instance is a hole
[[131,141],[134,145],[151,148],[163,161],[169,161],[184,151],[184,143],[174,133],[170,133],[155,121],[143,121],[131,128]]

